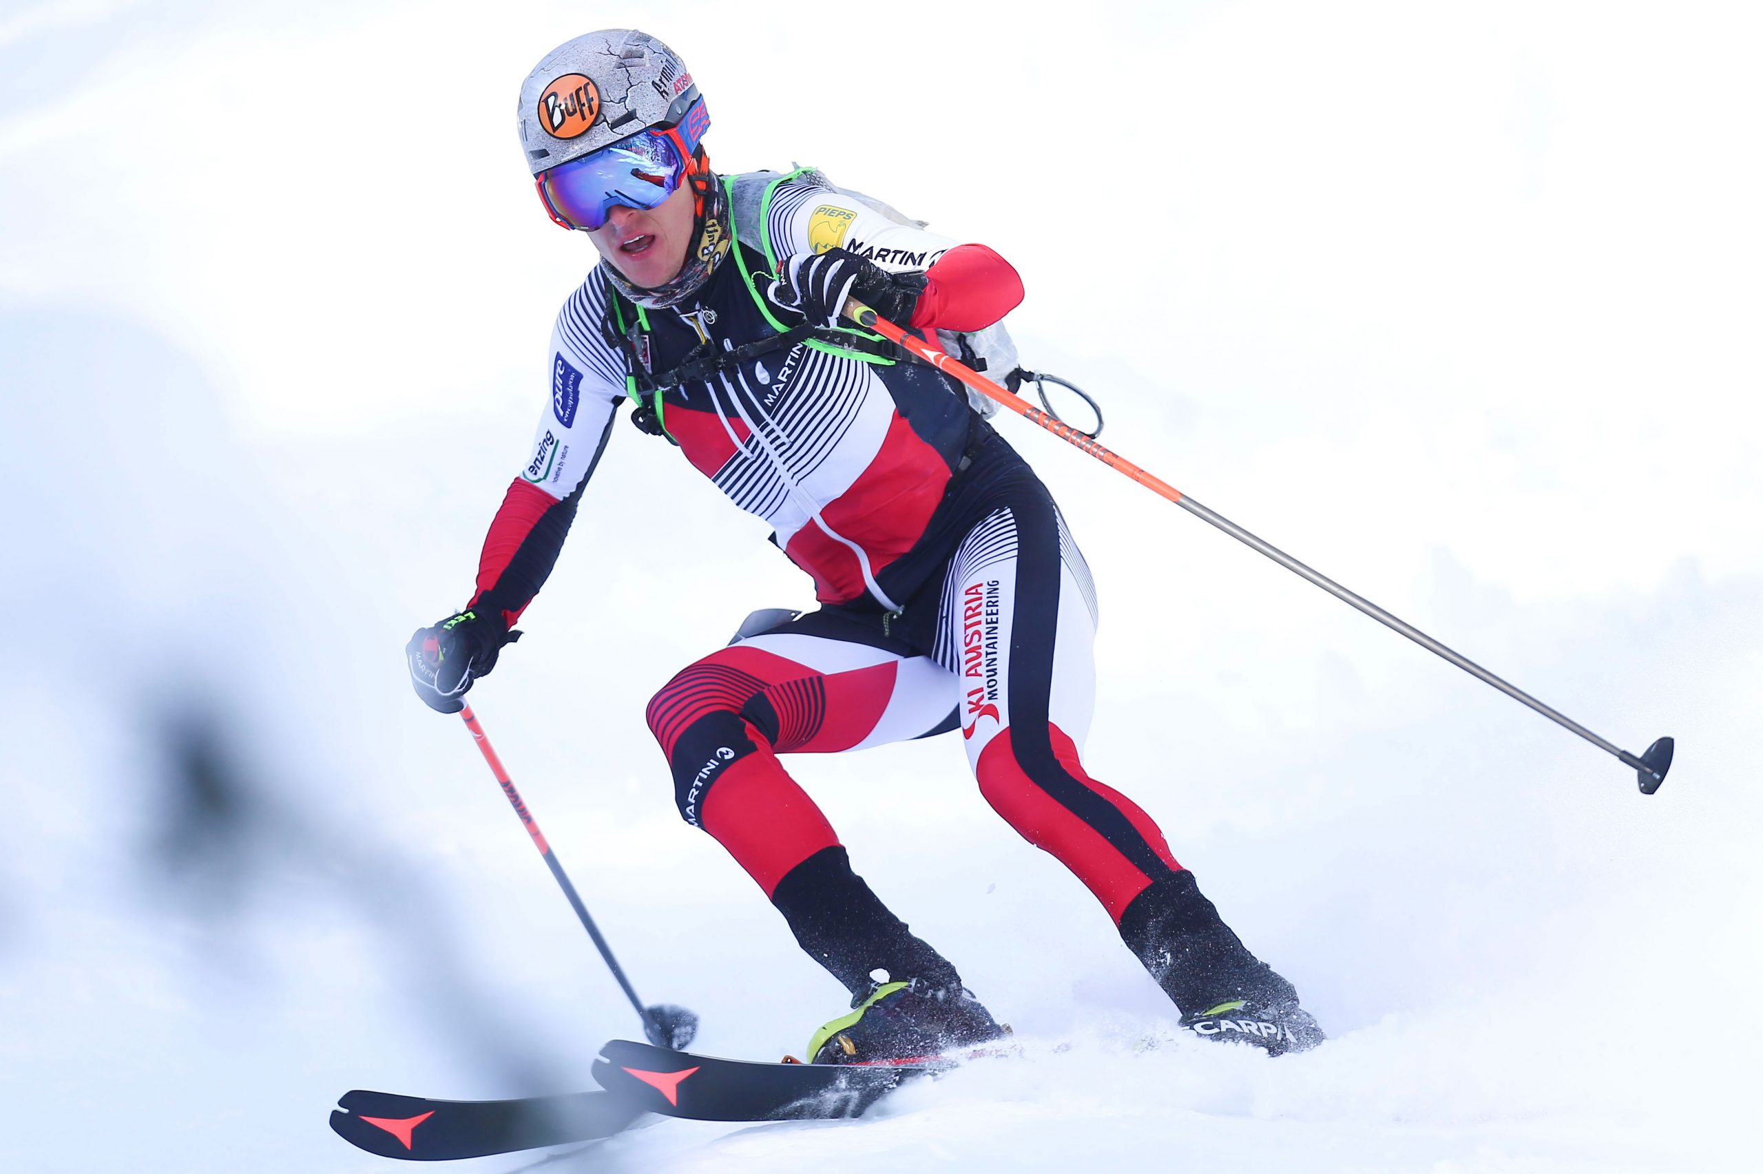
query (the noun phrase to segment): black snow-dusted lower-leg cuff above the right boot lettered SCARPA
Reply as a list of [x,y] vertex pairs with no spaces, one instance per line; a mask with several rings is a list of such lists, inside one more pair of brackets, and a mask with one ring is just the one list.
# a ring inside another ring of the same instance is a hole
[[1225,999],[1294,1001],[1298,991],[1243,945],[1194,873],[1162,876],[1120,915],[1120,936],[1183,1014]]

